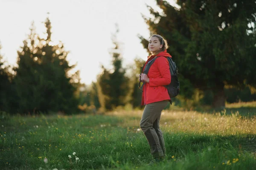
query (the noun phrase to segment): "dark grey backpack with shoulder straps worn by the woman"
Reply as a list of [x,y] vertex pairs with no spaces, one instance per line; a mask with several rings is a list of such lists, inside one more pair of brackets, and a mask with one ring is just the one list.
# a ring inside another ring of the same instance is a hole
[[[160,57],[160,56],[159,56]],[[157,59],[158,57],[150,60],[147,65],[145,66],[145,69],[143,71],[143,68],[141,69],[140,74],[142,74],[142,71],[144,74],[148,74],[149,68],[151,67],[151,65],[154,63],[154,61]],[[170,67],[170,73],[171,73],[171,83],[169,85],[165,85],[164,87],[167,88],[168,94],[170,96],[170,98],[173,98],[175,96],[177,96],[180,92],[180,82],[178,80],[178,68],[176,67],[175,62],[172,61],[171,57],[166,57],[168,59],[169,62],[169,67]],[[143,82],[144,85],[145,82]],[[140,87],[140,83],[139,83],[139,88],[142,91],[143,89],[143,85]],[[172,104],[172,100],[169,101]]]

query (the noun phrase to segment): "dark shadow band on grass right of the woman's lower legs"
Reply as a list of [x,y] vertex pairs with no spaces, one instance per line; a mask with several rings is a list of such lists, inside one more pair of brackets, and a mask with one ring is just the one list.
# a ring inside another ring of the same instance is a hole
[[[205,147],[219,147],[230,149],[230,147],[239,151],[256,154],[256,136],[255,134],[247,135],[230,135],[230,136],[209,136],[201,134],[165,134],[166,149],[169,153],[180,153],[186,151],[198,151]],[[188,150],[188,148],[190,148]],[[184,154],[184,153],[183,153]]]

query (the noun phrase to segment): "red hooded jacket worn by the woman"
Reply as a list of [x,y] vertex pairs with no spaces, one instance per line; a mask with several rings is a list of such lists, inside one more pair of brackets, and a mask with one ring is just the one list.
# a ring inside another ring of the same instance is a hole
[[[153,102],[160,102],[163,100],[170,100],[167,89],[164,85],[171,83],[171,73],[169,62],[166,57],[172,57],[167,51],[162,51],[157,55],[148,56],[146,64],[153,59],[158,57],[151,65],[148,71],[149,83],[145,82],[143,86],[141,105],[147,105]],[[143,71],[145,66],[143,68]]]

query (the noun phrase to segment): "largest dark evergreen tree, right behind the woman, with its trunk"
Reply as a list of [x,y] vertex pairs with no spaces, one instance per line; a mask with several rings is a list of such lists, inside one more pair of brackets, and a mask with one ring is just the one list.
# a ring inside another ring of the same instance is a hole
[[[224,85],[256,84],[254,0],[177,0],[180,8],[156,1],[163,12],[149,7],[154,18],[144,17],[145,22],[151,34],[163,35],[169,42],[168,51],[179,68],[181,94],[210,89],[212,105],[223,108]],[[148,42],[141,39],[146,48]]]

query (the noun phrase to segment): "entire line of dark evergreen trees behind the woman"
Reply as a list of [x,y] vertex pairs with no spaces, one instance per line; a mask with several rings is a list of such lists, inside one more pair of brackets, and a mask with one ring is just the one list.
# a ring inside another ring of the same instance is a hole
[[[174,105],[223,108],[225,102],[256,100],[254,0],[183,0],[177,1],[180,8],[157,0],[157,5],[162,12],[148,6],[152,17],[143,18],[151,34],[166,38],[179,69],[180,95],[173,99]],[[0,56],[0,111],[70,114],[143,108],[137,78],[145,60],[137,57],[132,65],[122,66],[118,31],[111,37],[113,68],[102,65],[96,82],[84,85],[79,71],[70,74],[76,65],[67,62],[64,44],[52,42],[49,18],[45,27],[47,37],[41,38],[32,24],[17,51],[17,67],[4,66]],[[147,49],[148,37],[138,37]]]

